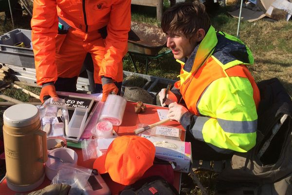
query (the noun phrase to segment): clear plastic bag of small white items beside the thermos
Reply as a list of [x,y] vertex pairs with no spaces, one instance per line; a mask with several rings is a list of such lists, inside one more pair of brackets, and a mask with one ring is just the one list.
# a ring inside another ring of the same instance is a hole
[[43,105],[37,106],[41,120],[41,129],[47,132],[47,137],[65,136],[68,129],[69,114],[65,100],[49,98]]

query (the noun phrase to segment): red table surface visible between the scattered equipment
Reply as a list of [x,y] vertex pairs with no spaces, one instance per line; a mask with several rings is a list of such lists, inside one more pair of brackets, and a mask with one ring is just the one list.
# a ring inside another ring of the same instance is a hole
[[[135,102],[130,102],[130,101],[127,102],[127,106],[125,109],[125,114],[123,117],[122,124],[120,126],[114,127],[114,130],[116,131],[116,133],[119,136],[134,135],[133,130],[139,128],[140,127],[139,125],[141,125],[141,124],[149,125],[149,124],[158,122],[159,116],[157,114],[157,109],[167,109],[167,108],[160,107],[160,106],[146,104],[146,112],[136,114],[134,111],[135,105],[136,105]],[[183,130],[183,127],[181,126],[181,124],[176,122],[176,121],[169,121],[169,122],[164,123],[163,125],[172,126],[175,128],[180,128]],[[181,135],[181,139],[184,140],[184,137],[185,137],[185,132],[183,130],[182,135]],[[92,165],[93,165],[93,162],[95,159],[89,159],[89,160],[83,161],[82,150],[75,149],[75,148],[73,148],[73,150],[78,155],[77,165],[92,169]],[[121,185],[119,183],[112,181],[108,174],[103,174],[102,177],[105,180],[105,182],[107,183],[107,185],[109,186],[112,195],[118,194],[121,190],[123,190],[125,188],[124,185]],[[180,190],[180,183],[181,183],[181,173],[174,172],[174,187],[178,191]],[[48,178],[45,178],[42,185],[40,185],[37,189],[35,189],[33,191],[37,191],[39,189],[42,189],[50,184],[51,184],[51,181]],[[15,191],[12,191],[7,187],[6,179],[4,178],[0,183],[0,194],[1,195],[14,195],[15,193],[16,193]]]

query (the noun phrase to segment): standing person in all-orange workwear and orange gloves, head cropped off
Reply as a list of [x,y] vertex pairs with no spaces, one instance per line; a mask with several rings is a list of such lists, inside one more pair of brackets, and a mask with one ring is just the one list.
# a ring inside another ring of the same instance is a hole
[[87,53],[94,65],[102,101],[123,81],[131,25],[130,0],[34,0],[32,43],[40,99],[55,90],[76,91]]

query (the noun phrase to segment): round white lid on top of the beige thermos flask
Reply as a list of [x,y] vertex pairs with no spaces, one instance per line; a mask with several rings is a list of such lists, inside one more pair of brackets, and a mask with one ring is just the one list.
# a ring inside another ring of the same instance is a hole
[[16,104],[7,108],[3,114],[3,123],[12,127],[24,127],[39,120],[39,111],[32,104]]

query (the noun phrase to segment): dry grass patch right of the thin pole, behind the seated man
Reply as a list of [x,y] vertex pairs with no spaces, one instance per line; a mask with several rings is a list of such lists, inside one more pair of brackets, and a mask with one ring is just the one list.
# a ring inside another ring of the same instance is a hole
[[241,33],[255,57],[253,76],[257,81],[277,77],[292,95],[292,22],[260,20],[253,26]]

